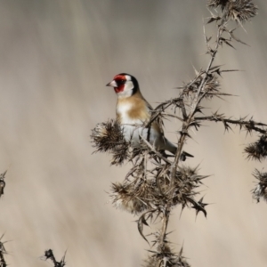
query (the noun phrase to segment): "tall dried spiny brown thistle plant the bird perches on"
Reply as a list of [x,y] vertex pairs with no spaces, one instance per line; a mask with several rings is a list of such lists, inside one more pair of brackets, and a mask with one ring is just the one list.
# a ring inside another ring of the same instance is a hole
[[[250,143],[244,152],[248,159],[262,161],[267,156],[267,125],[255,121],[252,117],[232,118],[217,111],[206,111],[203,101],[214,98],[230,97],[223,93],[220,78],[224,73],[235,71],[222,69],[214,61],[223,45],[234,47],[235,43],[246,44],[234,35],[237,27],[251,20],[257,13],[257,7],[252,0],[208,0],[207,7],[211,16],[206,24],[215,28],[215,37],[206,36],[206,54],[209,57],[206,68],[196,70],[196,75],[189,82],[177,87],[177,96],[161,102],[152,112],[150,127],[155,119],[176,118],[181,122],[177,152],[168,157],[162,151],[156,150],[142,136],[141,146],[132,148],[125,142],[120,125],[116,120],[96,125],[92,139],[96,151],[109,152],[112,155],[111,165],[120,166],[131,162],[131,168],[125,179],[111,185],[110,198],[114,206],[120,207],[131,214],[137,215],[137,227],[142,238],[150,244],[150,255],[144,266],[190,266],[180,253],[175,253],[168,239],[168,223],[175,206],[193,208],[196,214],[206,216],[206,203],[199,195],[201,186],[208,176],[199,174],[198,166],[182,164],[182,150],[190,140],[191,131],[198,130],[205,121],[221,123],[226,132],[238,126],[247,134],[257,134],[257,141]],[[236,28],[230,28],[236,24]],[[185,158],[184,158],[185,159]],[[255,170],[258,183],[252,190],[253,198],[267,200],[267,173]],[[156,231],[145,235],[144,225],[157,223]]]

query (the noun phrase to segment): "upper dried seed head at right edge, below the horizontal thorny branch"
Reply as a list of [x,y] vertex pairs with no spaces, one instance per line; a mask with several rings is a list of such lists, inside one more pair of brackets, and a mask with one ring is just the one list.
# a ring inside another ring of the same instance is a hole
[[247,158],[261,161],[267,156],[267,134],[263,134],[257,142],[250,143],[245,149]]

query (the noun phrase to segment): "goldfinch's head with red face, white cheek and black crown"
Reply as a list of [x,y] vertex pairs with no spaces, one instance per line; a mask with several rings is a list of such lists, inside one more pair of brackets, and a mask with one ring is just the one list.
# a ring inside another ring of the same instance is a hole
[[126,73],[117,74],[107,86],[114,88],[118,98],[129,97],[139,91],[136,78]]

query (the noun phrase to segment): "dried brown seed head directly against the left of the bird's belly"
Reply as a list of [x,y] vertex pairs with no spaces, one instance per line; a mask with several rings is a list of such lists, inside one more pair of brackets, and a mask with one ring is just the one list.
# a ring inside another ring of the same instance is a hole
[[91,138],[96,151],[113,154],[112,165],[122,164],[129,158],[129,143],[125,142],[122,129],[116,120],[111,119],[96,125]]

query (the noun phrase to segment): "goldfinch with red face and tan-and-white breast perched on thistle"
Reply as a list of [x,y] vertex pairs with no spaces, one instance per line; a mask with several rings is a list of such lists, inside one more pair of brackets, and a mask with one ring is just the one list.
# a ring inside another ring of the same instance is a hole
[[[138,148],[145,139],[159,151],[169,151],[175,155],[177,147],[168,141],[164,135],[162,120],[158,117],[150,125],[153,108],[142,96],[137,79],[127,73],[117,74],[106,86],[114,88],[117,94],[116,120],[121,128],[126,142]],[[193,157],[182,151],[181,159]]]

